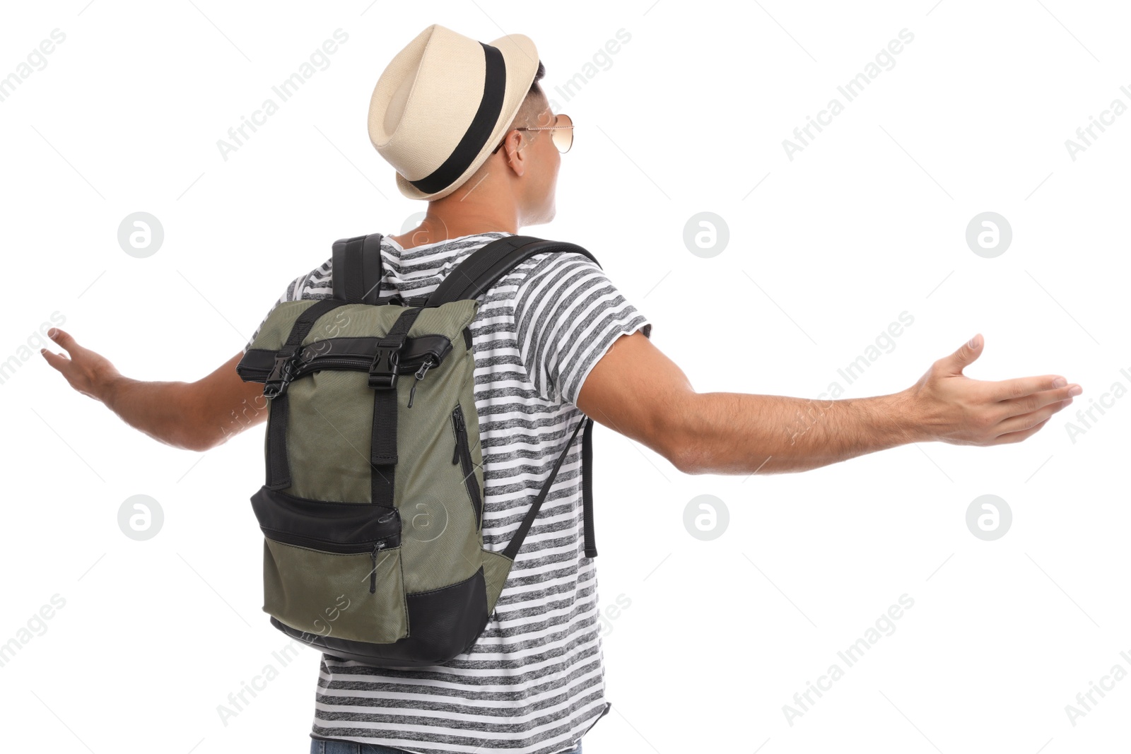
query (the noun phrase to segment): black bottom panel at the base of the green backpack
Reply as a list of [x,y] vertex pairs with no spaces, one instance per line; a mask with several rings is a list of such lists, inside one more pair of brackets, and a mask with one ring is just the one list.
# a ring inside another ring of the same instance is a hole
[[307,633],[271,617],[271,625],[293,639],[343,660],[381,668],[442,665],[466,652],[487,625],[487,591],[483,566],[450,587],[407,596],[408,636],[391,644],[371,644]]

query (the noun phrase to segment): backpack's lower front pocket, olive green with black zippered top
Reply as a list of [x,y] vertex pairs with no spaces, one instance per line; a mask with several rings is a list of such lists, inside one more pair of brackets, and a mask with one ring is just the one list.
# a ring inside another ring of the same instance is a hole
[[400,515],[261,488],[264,612],[313,634],[387,644],[408,635]]

